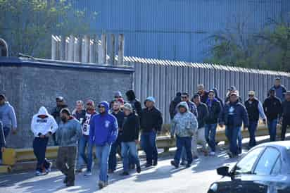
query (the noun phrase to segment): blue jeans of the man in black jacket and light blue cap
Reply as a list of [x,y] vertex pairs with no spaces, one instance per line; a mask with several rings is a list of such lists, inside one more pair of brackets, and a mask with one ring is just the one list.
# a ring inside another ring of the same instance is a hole
[[141,147],[145,151],[148,164],[152,164],[152,161],[157,162],[158,152],[156,147],[156,132],[142,132]]

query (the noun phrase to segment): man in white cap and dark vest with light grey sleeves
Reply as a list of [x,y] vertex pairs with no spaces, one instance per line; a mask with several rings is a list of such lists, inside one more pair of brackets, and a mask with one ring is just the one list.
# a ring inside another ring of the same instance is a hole
[[248,111],[248,133],[250,142],[248,149],[256,146],[256,130],[259,118],[263,118],[263,123],[266,124],[266,116],[263,109],[263,104],[255,97],[255,92],[248,92],[248,100],[245,101],[246,110]]

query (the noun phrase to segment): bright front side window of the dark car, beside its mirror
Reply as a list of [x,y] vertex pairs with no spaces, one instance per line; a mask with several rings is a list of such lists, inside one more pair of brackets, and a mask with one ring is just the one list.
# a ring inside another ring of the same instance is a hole
[[259,147],[250,151],[244,158],[241,158],[241,161],[237,163],[237,166],[234,170],[235,175],[239,174],[251,174],[254,164],[256,163],[257,158],[263,152],[265,148]]

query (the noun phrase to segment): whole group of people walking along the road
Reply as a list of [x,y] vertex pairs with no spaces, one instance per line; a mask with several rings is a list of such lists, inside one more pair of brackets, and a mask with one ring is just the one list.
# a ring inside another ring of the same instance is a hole
[[[215,156],[217,125],[225,126],[229,141],[229,157],[241,154],[241,127],[244,125],[250,135],[249,149],[256,146],[258,121],[269,128],[270,140],[276,140],[277,123],[282,122],[282,140],[286,127],[290,125],[290,92],[281,85],[279,78],[270,88],[269,97],[263,101],[256,98],[254,91],[248,92],[243,103],[239,91],[228,89],[225,101],[217,95],[217,89],[206,91],[198,85],[196,94],[190,98],[187,92],[178,92],[170,103],[170,134],[176,138],[177,151],[171,161],[172,166],[190,167],[198,158],[197,144],[202,145],[204,156]],[[108,185],[108,173],[114,173],[117,154],[122,158],[123,171],[129,175],[130,169],[141,172],[137,145],[146,154],[146,167],[158,165],[156,136],[163,125],[163,117],[156,108],[156,100],[148,97],[144,108],[134,94],[126,92],[127,101],[120,92],[108,103],[96,105],[94,101],[77,101],[71,112],[63,97],[56,98],[56,107],[49,113],[44,106],[32,118],[31,130],[34,134],[33,149],[37,157],[36,175],[45,175],[51,170],[46,160],[46,147],[51,137],[58,145],[56,166],[65,175],[63,182],[68,187],[75,185],[75,172],[86,168],[85,176],[92,175],[93,148],[99,163],[99,187]],[[97,111],[96,111],[97,108]],[[16,131],[16,117],[13,107],[4,94],[0,94],[0,146],[4,151],[8,132]],[[140,142],[139,142],[139,133]],[[0,154],[1,159],[1,154]]]

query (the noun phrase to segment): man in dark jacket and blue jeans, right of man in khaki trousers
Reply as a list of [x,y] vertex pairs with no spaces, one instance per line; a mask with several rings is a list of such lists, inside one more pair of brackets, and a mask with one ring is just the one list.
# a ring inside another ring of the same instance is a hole
[[217,130],[217,119],[220,116],[220,111],[222,111],[222,107],[220,102],[215,99],[215,92],[210,90],[208,92],[208,101],[206,101],[206,105],[208,106],[208,116],[205,118],[206,120],[206,141],[208,142],[208,146],[210,147],[210,156],[215,156],[215,133]]

